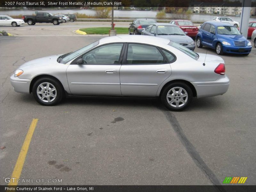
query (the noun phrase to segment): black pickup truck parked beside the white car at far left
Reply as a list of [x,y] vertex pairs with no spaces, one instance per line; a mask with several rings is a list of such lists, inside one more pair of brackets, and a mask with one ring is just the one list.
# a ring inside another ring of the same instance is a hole
[[63,23],[62,17],[53,16],[52,13],[38,12],[36,16],[23,15],[22,19],[28,25],[35,25],[36,23],[53,23],[53,25],[59,25]]

